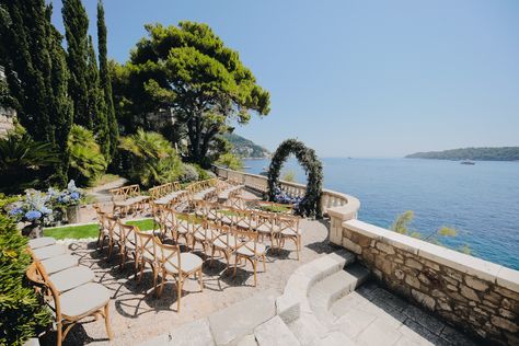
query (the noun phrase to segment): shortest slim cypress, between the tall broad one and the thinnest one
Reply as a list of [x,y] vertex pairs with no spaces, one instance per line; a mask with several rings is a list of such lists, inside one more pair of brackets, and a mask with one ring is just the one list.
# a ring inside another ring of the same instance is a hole
[[95,139],[101,147],[101,152],[106,157],[109,153],[108,125],[106,123],[106,106],[104,102],[104,93],[100,86],[100,73],[97,70],[97,60],[95,57],[92,36],[89,36],[89,55],[88,55],[88,74],[86,85],[89,117],[92,119],[93,132]]

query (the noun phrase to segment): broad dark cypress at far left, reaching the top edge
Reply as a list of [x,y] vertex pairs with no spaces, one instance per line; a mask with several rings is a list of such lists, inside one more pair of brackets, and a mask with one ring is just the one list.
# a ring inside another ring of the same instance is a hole
[[62,37],[50,23],[51,10],[44,0],[0,0],[0,65],[20,123],[35,140],[59,149],[53,177],[65,185],[72,108]]

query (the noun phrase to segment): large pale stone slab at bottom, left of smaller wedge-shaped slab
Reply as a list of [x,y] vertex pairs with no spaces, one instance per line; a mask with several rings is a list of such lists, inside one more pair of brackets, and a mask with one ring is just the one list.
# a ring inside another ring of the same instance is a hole
[[216,345],[232,345],[276,314],[274,289],[267,289],[208,316]]

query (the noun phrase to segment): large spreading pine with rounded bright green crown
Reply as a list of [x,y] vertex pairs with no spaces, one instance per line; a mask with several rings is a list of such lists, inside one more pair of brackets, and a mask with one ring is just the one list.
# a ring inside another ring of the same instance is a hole
[[126,65],[130,113],[145,117],[146,127],[147,114],[171,109],[185,127],[191,160],[207,165],[216,136],[233,119],[246,124],[251,112],[267,115],[269,94],[208,25],[181,22],[146,30],[148,37]]

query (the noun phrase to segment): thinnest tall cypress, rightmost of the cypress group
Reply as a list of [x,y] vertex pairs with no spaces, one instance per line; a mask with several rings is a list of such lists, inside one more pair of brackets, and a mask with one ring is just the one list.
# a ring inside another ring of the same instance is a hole
[[104,92],[105,114],[109,139],[109,150],[106,158],[109,161],[117,150],[119,130],[117,119],[115,117],[114,100],[112,96],[112,79],[108,71],[107,60],[107,31],[104,22],[104,8],[102,0],[97,2],[97,45],[100,60],[100,84]]

